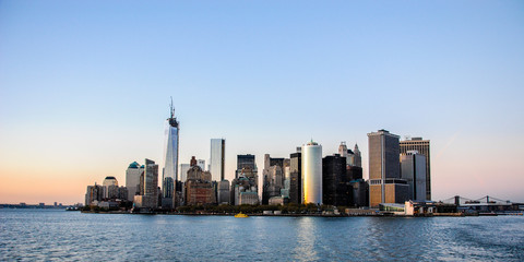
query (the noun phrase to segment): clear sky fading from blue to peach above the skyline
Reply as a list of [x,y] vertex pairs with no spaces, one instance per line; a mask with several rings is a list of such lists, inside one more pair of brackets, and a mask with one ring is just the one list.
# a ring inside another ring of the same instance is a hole
[[431,140],[433,199],[524,201],[523,1],[1,1],[0,202],[83,202],[129,163]]

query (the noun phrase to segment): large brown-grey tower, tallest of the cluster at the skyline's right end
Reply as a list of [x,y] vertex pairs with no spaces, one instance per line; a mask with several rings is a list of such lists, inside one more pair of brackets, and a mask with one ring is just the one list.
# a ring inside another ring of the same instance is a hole
[[398,135],[386,130],[368,133],[369,205],[404,203],[408,186],[401,179]]

